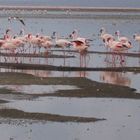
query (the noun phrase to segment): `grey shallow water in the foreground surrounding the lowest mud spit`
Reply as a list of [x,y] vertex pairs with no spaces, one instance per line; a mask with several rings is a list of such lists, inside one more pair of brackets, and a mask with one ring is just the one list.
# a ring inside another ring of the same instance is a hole
[[[95,123],[33,123],[21,125],[1,124],[3,139],[131,139],[140,137],[140,103],[138,100],[107,98],[56,98],[43,97],[35,101],[18,101],[5,104],[27,112],[47,112],[106,118]],[[18,123],[17,123],[18,124]],[[4,128],[8,132],[3,133]],[[40,133],[38,133],[40,131]],[[22,134],[21,134],[22,133]],[[21,135],[20,135],[21,134]]]

